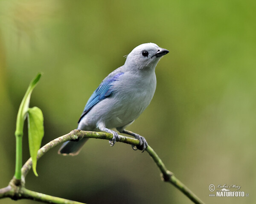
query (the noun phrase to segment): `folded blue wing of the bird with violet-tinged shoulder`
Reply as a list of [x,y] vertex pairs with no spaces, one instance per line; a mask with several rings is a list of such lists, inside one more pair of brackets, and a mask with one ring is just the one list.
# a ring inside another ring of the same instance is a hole
[[78,122],[81,121],[81,119],[90,111],[90,109],[93,108],[94,105],[102,101],[103,99],[111,96],[113,92],[113,85],[112,83],[118,80],[118,78],[124,74],[123,72],[119,72],[118,74],[114,76],[106,77],[99,87],[93,92],[93,94],[90,96],[90,99],[87,101],[87,104],[84,107],[84,111],[79,119]]

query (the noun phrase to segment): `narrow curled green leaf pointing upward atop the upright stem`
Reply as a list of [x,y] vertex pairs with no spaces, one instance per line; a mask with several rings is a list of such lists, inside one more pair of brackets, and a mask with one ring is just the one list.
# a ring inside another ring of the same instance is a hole
[[29,87],[20,103],[20,108],[17,114],[15,136],[23,136],[24,121],[26,119],[26,113],[29,108],[30,96],[33,89],[37,85],[41,75],[41,73],[38,73],[37,76],[30,82]]

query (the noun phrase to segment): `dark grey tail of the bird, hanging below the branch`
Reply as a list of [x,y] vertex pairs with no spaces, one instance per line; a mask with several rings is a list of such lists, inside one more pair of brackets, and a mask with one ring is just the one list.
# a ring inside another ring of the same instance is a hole
[[79,154],[81,148],[83,147],[84,143],[88,140],[88,138],[83,138],[78,142],[67,141],[62,144],[61,148],[58,150],[59,154],[64,156],[76,156]]

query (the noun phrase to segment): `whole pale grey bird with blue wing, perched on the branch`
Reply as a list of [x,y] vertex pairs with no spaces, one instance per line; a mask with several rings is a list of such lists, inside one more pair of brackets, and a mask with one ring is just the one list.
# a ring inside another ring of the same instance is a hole
[[[144,151],[148,143],[143,136],[126,130],[147,108],[156,90],[155,68],[160,58],[169,51],[155,43],[135,47],[126,57],[124,65],[112,71],[93,92],[85,105],[77,129],[111,133],[113,146],[119,133],[125,133],[140,141],[134,150]],[[67,141],[58,150],[62,155],[77,155],[88,138]]]

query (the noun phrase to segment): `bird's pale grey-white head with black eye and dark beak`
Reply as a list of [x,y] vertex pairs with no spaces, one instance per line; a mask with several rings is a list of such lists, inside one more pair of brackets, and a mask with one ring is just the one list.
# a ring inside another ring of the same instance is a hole
[[128,54],[125,66],[130,69],[155,68],[159,59],[169,53],[154,43],[145,43],[134,48]]

